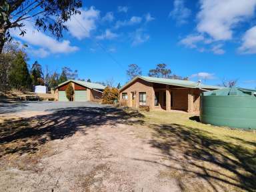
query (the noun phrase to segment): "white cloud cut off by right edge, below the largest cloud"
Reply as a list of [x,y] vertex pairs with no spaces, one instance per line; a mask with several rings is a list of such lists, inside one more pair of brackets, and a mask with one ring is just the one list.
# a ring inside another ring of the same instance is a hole
[[244,54],[255,54],[256,53],[256,26],[245,32],[242,39],[243,43],[239,47],[238,51]]

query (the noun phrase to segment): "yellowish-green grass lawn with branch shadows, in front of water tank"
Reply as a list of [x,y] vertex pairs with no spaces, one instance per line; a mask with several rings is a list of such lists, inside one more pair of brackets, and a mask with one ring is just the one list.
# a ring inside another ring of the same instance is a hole
[[187,113],[143,115],[151,145],[173,163],[163,177],[177,177],[183,191],[256,191],[255,131],[205,125]]

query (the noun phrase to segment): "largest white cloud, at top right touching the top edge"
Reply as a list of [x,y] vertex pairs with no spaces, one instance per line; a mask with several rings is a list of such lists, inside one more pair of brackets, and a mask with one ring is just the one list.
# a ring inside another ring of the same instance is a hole
[[197,31],[219,41],[232,39],[237,24],[253,16],[256,0],[201,0],[200,3]]

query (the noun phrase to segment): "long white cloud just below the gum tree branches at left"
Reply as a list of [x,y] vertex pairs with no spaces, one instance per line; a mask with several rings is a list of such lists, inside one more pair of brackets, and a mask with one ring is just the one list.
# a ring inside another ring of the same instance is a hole
[[[19,35],[18,29],[11,30],[11,35],[15,38],[27,42],[29,45],[38,46],[41,49],[33,51],[37,54],[42,54],[44,57],[48,53],[71,53],[77,51],[79,48],[70,45],[70,41],[57,41],[53,37],[46,35],[41,31],[37,31],[29,21],[24,21],[26,33],[24,36]],[[40,56],[40,55],[39,55]]]

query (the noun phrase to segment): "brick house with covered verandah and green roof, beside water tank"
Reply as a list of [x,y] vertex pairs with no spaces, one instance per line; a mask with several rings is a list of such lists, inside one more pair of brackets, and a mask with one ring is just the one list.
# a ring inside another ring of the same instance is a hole
[[221,88],[187,80],[138,76],[119,91],[121,103],[128,107],[147,105],[150,109],[197,113],[200,110],[201,92]]

